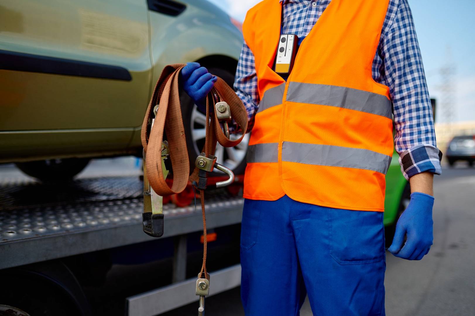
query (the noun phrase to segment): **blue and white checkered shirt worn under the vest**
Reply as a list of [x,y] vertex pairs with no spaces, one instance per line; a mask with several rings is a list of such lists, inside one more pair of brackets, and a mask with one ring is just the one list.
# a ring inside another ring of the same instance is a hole
[[[283,3],[282,33],[299,42],[310,32],[331,0],[280,0]],[[390,0],[381,30],[372,77],[389,86],[393,104],[395,149],[406,179],[420,172],[441,173],[442,153],[436,134],[419,44],[407,0]],[[244,43],[237,64],[234,88],[243,101],[250,128],[259,107],[254,55]]]

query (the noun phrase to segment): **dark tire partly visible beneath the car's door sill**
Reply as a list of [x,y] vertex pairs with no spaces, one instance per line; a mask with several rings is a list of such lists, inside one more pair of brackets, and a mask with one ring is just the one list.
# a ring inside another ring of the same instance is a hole
[[89,158],[48,159],[16,163],[17,167],[41,181],[71,180],[89,163]]

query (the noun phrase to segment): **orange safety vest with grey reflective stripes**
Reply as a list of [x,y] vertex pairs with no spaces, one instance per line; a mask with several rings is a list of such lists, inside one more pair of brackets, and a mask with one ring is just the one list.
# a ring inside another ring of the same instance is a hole
[[393,153],[389,87],[371,67],[389,0],[332,0],[304,38],[287,82],[273,70],[282,7],[247,12],[259,109],[247,155],[244,197],[384,211]]

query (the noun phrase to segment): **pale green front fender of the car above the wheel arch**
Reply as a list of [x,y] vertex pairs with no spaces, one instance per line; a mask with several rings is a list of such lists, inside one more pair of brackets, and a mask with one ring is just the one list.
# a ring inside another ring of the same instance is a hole
[[[151,92],[166,65],[199,61],[213,56],[225,56],[236,61],[239,59],[244,39],[224,11],[206,0],[180,2],[186,3],[187,9],[180,15],[179,23],[173,17],[149,11],[154,65]],[[130,150],[142,147],[142,120],[143,113],[142,118],[136,122],[129,144]]]

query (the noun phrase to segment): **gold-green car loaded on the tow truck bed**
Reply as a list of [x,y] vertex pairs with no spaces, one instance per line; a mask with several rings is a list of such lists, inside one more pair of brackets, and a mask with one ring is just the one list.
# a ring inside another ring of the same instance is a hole
[[[50,180],[92,157],[140,155],[161,69],[198,61],[232,84],[238,28],[206,0],[0,0],[0,163]],[[205,118],[187,96],[183,104],[198,154]],[[217,155],[240,173],[246,150]]]

